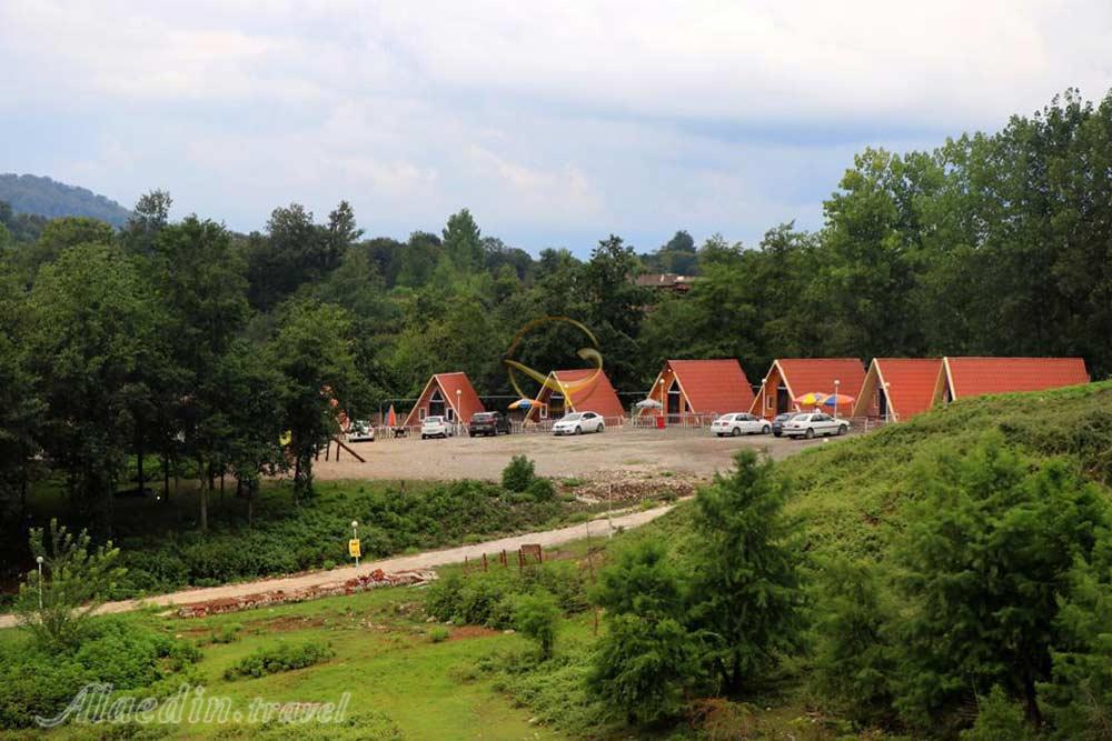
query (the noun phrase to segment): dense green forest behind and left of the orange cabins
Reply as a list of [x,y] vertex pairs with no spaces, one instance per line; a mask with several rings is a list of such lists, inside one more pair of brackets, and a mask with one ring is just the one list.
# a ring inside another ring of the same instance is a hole
[[[1082,356],[1103,378],[1110,142],[1112,96],[1068,91],[932,152],[866,149],[818,231],[697,247],[679,231],[645,254],[600,236],[586,260],[533,258],[466,209],[403,242],[368,237],[374,221],[358,228],[345,202],[325,218],[277,208],[246,236],[203,214],[171,222],[161,191],[120,229],[0,207],[0,504],[19,510],[49,461],[109,527],[106,492],[129,455],[151,461],[141,480],[188,461],[252,481],[285,463],[284,430],[308,491],[330,433],[321,388],[353,415],[411,399],[439,371],[508,393],[503,353],[545,316],[590,327],[619,391],[644,389],[667,358],[738,358],[754,380],[775,357]],[[631,280],[665,270],[701,280],[685,296]],[[520,360],[567,366],[580,344],[549,324]]]

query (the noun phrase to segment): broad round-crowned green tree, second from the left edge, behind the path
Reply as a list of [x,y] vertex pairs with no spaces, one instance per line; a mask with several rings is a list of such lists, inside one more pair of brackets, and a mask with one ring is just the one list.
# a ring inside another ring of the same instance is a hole
[[132,259],[103,244],[43,266],[31,306],[30,357],[48,405],[40,442],[66,470],[75,504],[110,532],[133,394],[141,369],[165,351],[161,308]]

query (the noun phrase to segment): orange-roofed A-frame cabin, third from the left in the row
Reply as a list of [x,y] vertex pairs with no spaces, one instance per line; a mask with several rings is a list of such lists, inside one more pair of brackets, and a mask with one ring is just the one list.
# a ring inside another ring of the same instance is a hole
[[661,409],[643,409],[642,414],[678,420],[683,414],[747,411],[753,405],[753,387],[733,358],[668,360],[653,381],[648,398],[661,402]]

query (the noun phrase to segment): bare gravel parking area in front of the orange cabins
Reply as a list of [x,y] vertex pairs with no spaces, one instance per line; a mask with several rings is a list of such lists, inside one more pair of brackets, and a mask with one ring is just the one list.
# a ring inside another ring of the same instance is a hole
[[[499,438],[447,440],[379,439],[353,443],[366,463],[346,451],[340,460],[314,464],[318,479],[487,479],[502,475],[513,455],[527,455],[537,473],[553,478],[679,475],[705,479],[732,465],[742,448],[786,458],[823,440],[788,440],[772,435],[716,438],[704,431],[608,429],[602,434],[555,438],[529,433]],[[335,452],[335,448],[332,448]]]

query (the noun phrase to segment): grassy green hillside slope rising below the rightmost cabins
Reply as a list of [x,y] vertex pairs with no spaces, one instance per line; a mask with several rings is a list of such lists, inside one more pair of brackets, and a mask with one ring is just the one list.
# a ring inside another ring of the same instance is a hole
[[[916,494],[916,464],[940,447],[972,447],[1000,431],[1033,459],[1062,457],[1112,485],[1112,381],[959,400],[901,424],[804,451],[777,463],[794,483],[788,511],[805,520],[817,554],[880,557]],[[634,537],[665,538],[684,550],[692,505]]]

